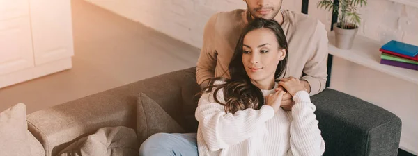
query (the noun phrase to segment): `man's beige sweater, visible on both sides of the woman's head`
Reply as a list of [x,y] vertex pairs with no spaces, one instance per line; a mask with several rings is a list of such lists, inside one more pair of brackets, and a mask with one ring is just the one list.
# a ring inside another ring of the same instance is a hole
[[[288,41],[288,66],[284,77],[307,80],[310,95],[325,89],[327,81],[328,38],[325,26],[302,13],[284,10],[281,27]],[[280,15],[280,14],[278,14]],[[210,17],[203,34],[203,47],[197,62],[196,80],[199,85],[210,78],[229,78],[228,70],[233,51],[243,28],[251,21],[247,10],[219,12]]]

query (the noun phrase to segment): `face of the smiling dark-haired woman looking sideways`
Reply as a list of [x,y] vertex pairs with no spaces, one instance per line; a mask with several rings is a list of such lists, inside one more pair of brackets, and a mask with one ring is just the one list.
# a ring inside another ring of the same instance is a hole
[[271,83],[279,61],[286,56],[276,36],[268,28],[259,28],[245,35],[242,46],[242,64],[249,78],[256,83]]

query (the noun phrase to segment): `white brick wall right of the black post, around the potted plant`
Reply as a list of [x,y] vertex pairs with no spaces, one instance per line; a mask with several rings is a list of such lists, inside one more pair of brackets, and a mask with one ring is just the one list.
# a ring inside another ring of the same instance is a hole
[[[309,1],[309,15],[320,19],[330,30],[332,14],[316,8],[318,1]],[[418,8],[387,0],[369,0],[359,13],[362,17],[359,35],[382,44],[398,40],[418,45]]]

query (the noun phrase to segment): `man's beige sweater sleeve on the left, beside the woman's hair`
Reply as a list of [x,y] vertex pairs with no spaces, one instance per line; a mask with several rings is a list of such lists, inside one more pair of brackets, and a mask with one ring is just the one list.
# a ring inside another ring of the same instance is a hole
[[[215,24],[217,15],[210,17],[203,32],[203,46],[196,66],[196,81],[201,85],[206,80],[215,77],[215,67],[217,64],[217,52],[215,49]],[[205,82],[207,83],[207,82]],[[206,87],[206,86],[204,86]]]

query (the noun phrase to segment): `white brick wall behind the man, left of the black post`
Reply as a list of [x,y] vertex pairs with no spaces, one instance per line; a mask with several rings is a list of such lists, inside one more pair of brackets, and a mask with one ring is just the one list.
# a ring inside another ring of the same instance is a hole
[[[201,47],[206,21],[216,12],[247,8],[242,0],[86,0],[118,15],[138,21],[178,40]],[[301,9],[302,0],[284,1]]]

